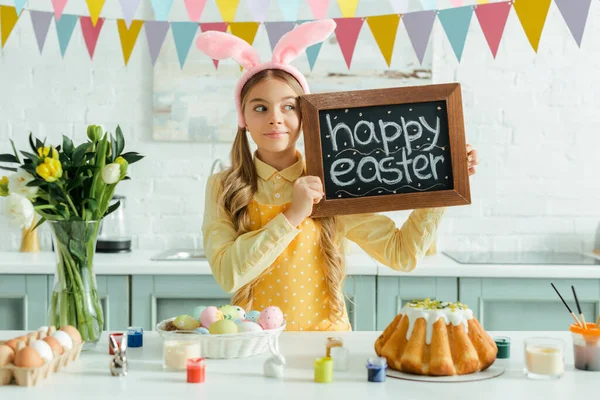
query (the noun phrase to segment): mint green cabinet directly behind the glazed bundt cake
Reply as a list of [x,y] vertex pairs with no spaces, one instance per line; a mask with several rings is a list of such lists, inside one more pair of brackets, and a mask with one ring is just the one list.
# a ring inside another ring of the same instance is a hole
[[406,302],[430,298],[457,301],[457,278],[398,277],[377,278],[377,330],[383,330]]

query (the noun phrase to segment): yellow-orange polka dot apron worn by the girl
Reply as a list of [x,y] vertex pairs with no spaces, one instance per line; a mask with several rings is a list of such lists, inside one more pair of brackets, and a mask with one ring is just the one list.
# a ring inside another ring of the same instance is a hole
[[[251,229],[267,224],[290,203],[283,205],[250,203]],[[252,309],[268,306],[281,309],[288,331],[351,330],[344,306],[342,321],[332,323],[327,308],[327,287],[323,271],[324,259],[319,248],[319,226],[305,219],[300,233],[259,279],[252,295]]]

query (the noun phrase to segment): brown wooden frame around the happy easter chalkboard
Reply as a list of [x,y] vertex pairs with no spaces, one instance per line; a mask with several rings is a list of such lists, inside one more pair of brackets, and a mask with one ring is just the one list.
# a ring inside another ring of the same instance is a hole
[[459,83],[300,96],[306,172],[308,175],[320,177],[321,181],[325,182],[319,111],[433,101],[445,101],[446,103],[453,189],[349,199],[323,198],[318,204],[315,204],[311,216],[326,217],[471,204],[462,95]]

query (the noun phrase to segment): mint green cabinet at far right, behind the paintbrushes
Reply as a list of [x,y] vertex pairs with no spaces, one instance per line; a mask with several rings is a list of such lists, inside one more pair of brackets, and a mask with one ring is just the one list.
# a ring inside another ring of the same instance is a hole
[[489,331],[566,331],[574,321],[551,282],[577,314],[574,285],[586,321],[596,321],[600,313],[596,279],[461,278],[459,298]]

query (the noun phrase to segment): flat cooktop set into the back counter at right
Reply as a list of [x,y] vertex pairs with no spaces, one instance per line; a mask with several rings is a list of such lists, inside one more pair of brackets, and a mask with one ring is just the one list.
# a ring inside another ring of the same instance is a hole
[[461,264],[540,264],[540,265],[600,265],[600,260],[577,252],[515,251],[461,252],[443,254]]

